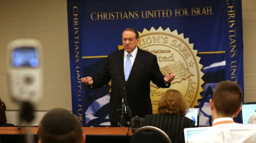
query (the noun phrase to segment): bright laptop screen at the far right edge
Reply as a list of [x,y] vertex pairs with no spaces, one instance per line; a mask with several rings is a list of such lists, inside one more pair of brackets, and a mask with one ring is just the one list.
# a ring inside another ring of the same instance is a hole
[[256,113],[256,102],[245,102],[241,105],[241,119],[243,124],[247,124],[250,116]]

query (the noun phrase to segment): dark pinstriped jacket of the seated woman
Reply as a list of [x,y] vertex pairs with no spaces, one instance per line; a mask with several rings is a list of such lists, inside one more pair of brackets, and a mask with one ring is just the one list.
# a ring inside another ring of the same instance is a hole
[[143,126],[154,126],[163,130],[172,143],[185,143],[184,129],[195,127],[195,122],[185,116],[154,114],[146,115]]

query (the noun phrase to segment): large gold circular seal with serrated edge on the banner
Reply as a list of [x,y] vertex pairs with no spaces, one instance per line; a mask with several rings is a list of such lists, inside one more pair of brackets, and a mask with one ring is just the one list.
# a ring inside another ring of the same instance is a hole
[[[138,47],[157,56],[163,75],[175,74],[170,88],[180,91],[190,107],[198,105],[197,99],[201,98],[200,92],[203,91],[203,66],[199,64],[200,57],[196,56],[197,50],[193,50],[189,39],[184,39],[183,34],[178,35],[177,31],[171,32],[169,28],[163,30],[161,27],[157,30],[152,27],[150,31],[144,29],[139,34]],[[167,89],[157,87],[152,81],[150,86],[151,104],[153,112],[156,113],[157,101]]]

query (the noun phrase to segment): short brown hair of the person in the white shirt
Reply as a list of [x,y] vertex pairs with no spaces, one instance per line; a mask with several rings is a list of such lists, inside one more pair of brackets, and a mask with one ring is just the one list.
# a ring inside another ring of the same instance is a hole
[[219,114],[231,116],[241,106],[243,93],[238,84],[221,81],[212,95],[213,105]]

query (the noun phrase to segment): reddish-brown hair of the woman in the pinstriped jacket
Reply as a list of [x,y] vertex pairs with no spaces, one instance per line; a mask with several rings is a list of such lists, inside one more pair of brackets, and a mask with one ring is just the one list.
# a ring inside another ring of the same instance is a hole
[[177,90],[167,90],[158,101],[158,112],[163,114],[186,115],[189,104]]

